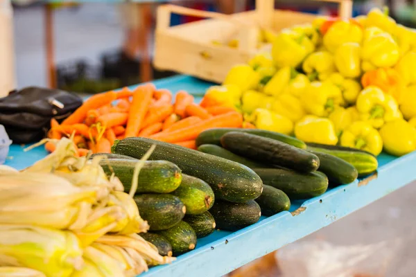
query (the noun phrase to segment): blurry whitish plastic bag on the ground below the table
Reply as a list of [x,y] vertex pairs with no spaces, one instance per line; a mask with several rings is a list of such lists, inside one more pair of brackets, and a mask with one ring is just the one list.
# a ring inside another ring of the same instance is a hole
[[382,277],[400,240],[335,246],[324,241],[295,242],[276,253],[281,277]]

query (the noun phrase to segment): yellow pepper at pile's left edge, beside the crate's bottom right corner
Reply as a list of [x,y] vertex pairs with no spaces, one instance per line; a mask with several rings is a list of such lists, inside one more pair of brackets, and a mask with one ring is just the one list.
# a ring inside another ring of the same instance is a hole
[[259,73],[254,71],[250,65],[237,64],[228,71],[223,84],[235,84],[241,91],[246,91],[255,89],[259,82]]

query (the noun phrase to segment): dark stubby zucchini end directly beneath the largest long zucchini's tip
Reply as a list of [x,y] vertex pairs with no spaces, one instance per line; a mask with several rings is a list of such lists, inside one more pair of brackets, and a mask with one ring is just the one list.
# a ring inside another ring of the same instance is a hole
[[231,203],[216,201],[211,210],[216,222],[216,228],[227,231],[237,231],[259,221],[261,209],[254,200],[246,203]]

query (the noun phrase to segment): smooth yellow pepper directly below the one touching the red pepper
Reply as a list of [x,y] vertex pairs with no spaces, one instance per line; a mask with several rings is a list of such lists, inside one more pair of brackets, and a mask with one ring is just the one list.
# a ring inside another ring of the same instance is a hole
[[341,44],[333,56],[336,69],[347,78],[361,75],[361,48],[356,42]]

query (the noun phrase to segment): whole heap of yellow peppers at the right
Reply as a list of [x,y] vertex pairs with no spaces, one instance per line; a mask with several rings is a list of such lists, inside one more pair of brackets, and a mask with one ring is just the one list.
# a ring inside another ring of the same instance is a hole
[[416,150],[416,30],[373,8],[347,21],[317,17],[272,37],[271,51],[234,66],[204,101],[305,142],[374,155]]

